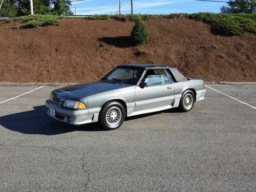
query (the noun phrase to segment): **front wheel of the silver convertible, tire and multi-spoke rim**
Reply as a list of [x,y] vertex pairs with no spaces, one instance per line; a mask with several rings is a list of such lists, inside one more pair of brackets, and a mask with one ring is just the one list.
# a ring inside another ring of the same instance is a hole
[[104,130],[115,130],[125,119],[125,109],[120,102],[110,101],[103,105],[99,115],[99,124]]

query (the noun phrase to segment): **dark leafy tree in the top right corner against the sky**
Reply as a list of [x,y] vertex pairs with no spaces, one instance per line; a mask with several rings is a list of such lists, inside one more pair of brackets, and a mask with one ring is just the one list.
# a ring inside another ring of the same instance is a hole
[[222,13],[255,13],[256,0],[229,0],[221,7]]

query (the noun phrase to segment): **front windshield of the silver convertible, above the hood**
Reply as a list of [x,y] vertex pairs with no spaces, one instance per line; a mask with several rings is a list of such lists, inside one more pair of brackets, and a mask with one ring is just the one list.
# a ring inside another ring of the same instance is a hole
[[136,85],[142,73],[140,68],[118,67],[101,80]]

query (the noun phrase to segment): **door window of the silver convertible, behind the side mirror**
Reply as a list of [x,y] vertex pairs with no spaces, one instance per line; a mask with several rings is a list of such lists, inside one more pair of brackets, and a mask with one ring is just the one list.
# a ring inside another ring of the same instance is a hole
[[142,81],[147,83],[148,86],[169,83],[164,69],[147,70]]

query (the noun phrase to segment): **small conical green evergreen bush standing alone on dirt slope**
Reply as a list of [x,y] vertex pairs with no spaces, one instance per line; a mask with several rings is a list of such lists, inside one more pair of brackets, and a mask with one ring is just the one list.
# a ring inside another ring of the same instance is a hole
[[150,34],[144,22],[139,19],[136,21],[131,33],[132,40],[135,45],[142,45],[150,40]]

